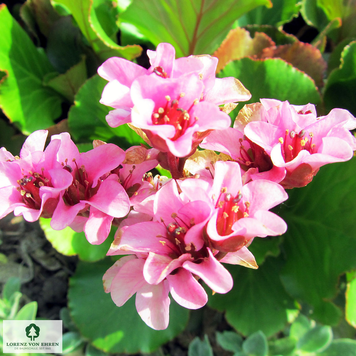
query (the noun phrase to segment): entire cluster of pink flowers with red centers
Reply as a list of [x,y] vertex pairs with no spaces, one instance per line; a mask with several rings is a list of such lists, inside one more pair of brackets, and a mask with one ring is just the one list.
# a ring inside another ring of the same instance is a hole
[[[283,234],[269,211],[285,189],[304,187],[326,163],[350,159],[356,119],[334,109],[272,99],[245,105],[230,127],[227,112],[250,93],[235,78],[215,78],[217,59],[175,59],[161,43],[150,68],[110,58],[98,69],[108,80],[101,103],[114,108],[110,126],[129,124],[152,148],[94,141],[79,153],[68,133],[32,133],[20,156],[0,150],[0,218],[14,211],[28,221],[51,218],[53,229],[84,231],[100,244],[117,226],[108,255],[121,256],[103,277],[117,306],[136,294],[136,308],[153,329],[169,322],[171,297],[185,308],[227,293],[225,263],[257,268],[248,246]],[[197,147],[203,150],[197,150]],[[218,152],[218,153],[217,153]],[[149,172],[158,167],[172,178]]]

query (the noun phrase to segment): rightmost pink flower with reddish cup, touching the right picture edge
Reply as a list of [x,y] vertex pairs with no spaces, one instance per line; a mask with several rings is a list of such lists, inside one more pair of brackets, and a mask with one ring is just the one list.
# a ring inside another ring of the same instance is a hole
[[349,132],[356,119],[344,109],[316,117],[312,104],[296,106],[272,99],[261,103],[261,121],[249,122],[244,133],[267,152],[274,166],[285,169],[284,188],[304,187],[319,167],[347,161],[356,150],[356,139]]

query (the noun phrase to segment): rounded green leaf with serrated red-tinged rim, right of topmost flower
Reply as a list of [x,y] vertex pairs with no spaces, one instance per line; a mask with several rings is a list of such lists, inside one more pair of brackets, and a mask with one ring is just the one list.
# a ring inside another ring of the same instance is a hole
[[251,99],[244,104],[256,103],[261,98],[288,100],[294,105],[320,103],[320,95],[313,80],[283,59],[255,61],[241,58],[228,63],[219,77],[235,77],[240,80],[252,94]]

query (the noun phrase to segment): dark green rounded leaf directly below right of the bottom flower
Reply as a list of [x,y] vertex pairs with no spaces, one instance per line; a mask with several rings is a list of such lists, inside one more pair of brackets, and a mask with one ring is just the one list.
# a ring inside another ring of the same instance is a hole
[[262,330],[270,336],[282,330],[288,321],[287,310],[296,308],[279,279],[280,261],[268,257],[258,269],[224,267],[230,271],[234,287],[229,293],[209,296],[210,307],[225,310],[228,323],[244,335]]

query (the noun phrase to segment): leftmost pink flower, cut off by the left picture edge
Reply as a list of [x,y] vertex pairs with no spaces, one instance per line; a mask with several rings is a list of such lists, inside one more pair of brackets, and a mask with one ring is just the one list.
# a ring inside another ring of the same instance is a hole
[[22,146],[20,157],[1,148],[0,219],[14,211],[27,221],[40,216],[50,218],[59,195],[72,184],[73,177],[59,162],[60,140],[53,140],[46,150],[48,131],[31,133]]

